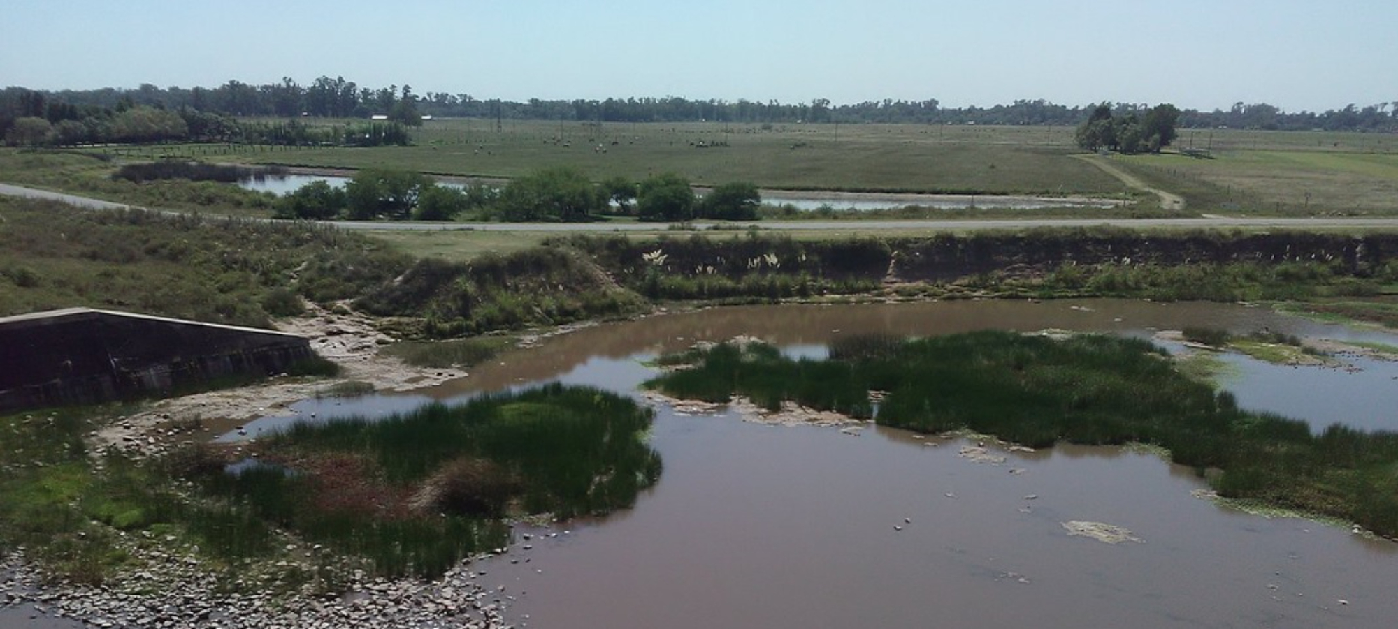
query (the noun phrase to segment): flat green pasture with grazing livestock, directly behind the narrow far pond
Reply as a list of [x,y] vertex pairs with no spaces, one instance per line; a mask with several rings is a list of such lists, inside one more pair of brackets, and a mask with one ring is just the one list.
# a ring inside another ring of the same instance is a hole
[[249,152],[295,166],[396,165],[435,175],[513,178],[575,166],[593,179],[678,172],[699,185],[752,180],[811,190],[1123,194],[1113,178],[1067,159],[1064,127],[914,124],[761,126],[429,122],[412,147]]

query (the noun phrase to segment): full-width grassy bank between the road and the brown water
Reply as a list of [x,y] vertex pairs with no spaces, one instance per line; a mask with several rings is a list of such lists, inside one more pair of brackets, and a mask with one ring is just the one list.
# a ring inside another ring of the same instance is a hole
[[15,198],[0,200],[0,218],[3,313],[87,305],[266,326],[299,310],[301,298],[354,299],[389,317],[386,326],[428,337],[628,316],[651,301],[822,295],[1323,299],[1314,309],[1364,306],[1383,320],[1394,308],[1387,295],[1398,292],[1392,238],[1383,233],[570,236],[414,261],[372,238],[299,224],[84,212]]

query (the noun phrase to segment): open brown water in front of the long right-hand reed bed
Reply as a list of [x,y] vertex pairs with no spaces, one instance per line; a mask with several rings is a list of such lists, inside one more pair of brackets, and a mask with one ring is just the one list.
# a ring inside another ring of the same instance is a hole
[[[1149,454],[990,465],[895,433],[663,412],[653,495],[481,567],[520,595],[514,618],[579,629],[1387,628],[1398,612],[1392,544],[1219,509]],[[1144,544],[1069,537],[1067,520]]]

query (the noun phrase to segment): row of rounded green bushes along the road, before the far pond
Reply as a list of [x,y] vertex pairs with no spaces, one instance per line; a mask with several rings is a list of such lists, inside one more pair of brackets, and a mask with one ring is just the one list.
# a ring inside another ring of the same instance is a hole
[[344,187],[310,182],[281,196],[274,217],[287,219],[587,222],[605,215],[642,221],[712,218],[754,221],[762,197],[748,182],[731,182],[696,196],[674,173],[642,182],[612,178],[593,183],[580,171],[549,168],[512,179],[503,189],[440,185],[400,169],[365,169]]

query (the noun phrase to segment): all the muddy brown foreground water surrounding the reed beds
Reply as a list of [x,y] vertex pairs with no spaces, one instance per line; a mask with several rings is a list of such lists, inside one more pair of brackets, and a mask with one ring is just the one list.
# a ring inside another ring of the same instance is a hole
[[[639,396],[637,384],[654,373],[646,358],[740,334],[819,355],[854,333],[1152,335],[1183,326],[1395,344],[1385,334],[1213,303],[745,306],[594,326],[431,390],[295,408],[320,418],[379,414],[549,380]],[[1394,363],[1346,372],[1229,361],[1239,365],[1229,389],[1243,407],[1313,426],[1398,429]],[[510,616],[520,626],[1391,628],[1398,616],[1398,544],[1219,506],[1197,498],[1206,485],[1192,470],[1149,453],[988,444],[1004,461],[976,463],[960,453],[973,444],[956,439],[769,426],[664,405],[651,444],[664,474],[635,509],[552,530],[520,527],[516,535],[534,537],[530,549],[520,544],[475,566],[513,597]],[[1138,541],[1072,535],[1064,526],[1071,521],[1124,527]]]

